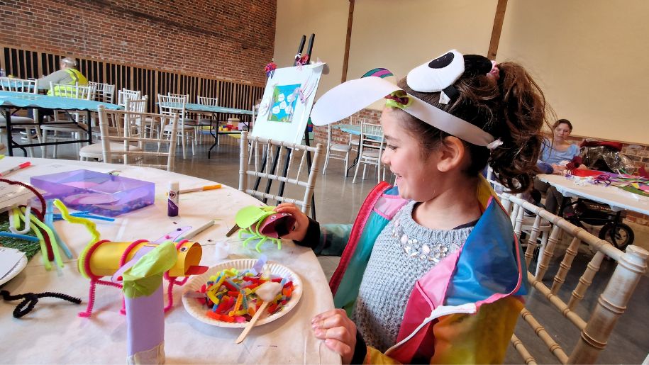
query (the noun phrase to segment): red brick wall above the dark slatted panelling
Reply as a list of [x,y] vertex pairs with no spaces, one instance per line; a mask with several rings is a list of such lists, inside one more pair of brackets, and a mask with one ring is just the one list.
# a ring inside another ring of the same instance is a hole
[[0,44],[265,84],[276,0],[0,0]]

